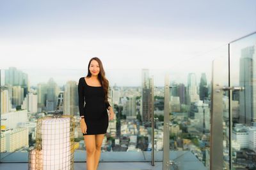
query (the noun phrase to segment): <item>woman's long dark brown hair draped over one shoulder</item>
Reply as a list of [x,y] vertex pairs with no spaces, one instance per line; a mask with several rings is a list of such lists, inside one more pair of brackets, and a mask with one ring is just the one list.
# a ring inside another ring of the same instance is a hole
[[109,89],[109,83],[108,80],[105,77],[105,71],[102,65],[101,60],[98,57],[93,57],[92,59],[90,59],[90,62],[88,64],[88,73],[87,73],[87,77],[91,77],[92,73],[89,70],[90,64],[92,62],[92,60],[96,60],[100,66],[100,73],[98,74],[98,80],[100,81],[100,85],[103,87],[104,90],[104,94],[105,94],[105,101],[108,101],[108,89]]

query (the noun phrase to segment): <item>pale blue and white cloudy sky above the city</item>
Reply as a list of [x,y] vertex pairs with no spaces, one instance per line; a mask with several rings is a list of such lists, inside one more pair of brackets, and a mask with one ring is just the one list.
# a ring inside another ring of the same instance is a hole
[[99,57],[111,84],[140,85],[143,68],[157,85],[164,73],[210,77],[227,44],[256,31],[255,17],[253,0],[0,1],[0,68],[28,71],[31,84],[54,69],[76,80]]

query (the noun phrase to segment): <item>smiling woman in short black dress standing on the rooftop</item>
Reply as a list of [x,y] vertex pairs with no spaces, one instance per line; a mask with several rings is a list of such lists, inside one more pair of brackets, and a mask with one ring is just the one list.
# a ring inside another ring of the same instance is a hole
[[86,145],[88,170],[96,170],[98,167],[108,119],[112,120],[114,117],[113,108],[108,103],[108,89],[109,83],[105,78],[102,62],[93,57],[88,64],[87,76],[81,77],[78,83],[80,124]]

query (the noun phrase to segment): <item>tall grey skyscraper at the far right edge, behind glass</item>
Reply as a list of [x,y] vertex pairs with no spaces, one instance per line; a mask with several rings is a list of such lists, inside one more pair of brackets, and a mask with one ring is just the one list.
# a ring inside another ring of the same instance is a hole
[[255,46],[241,50],[239,62],[239,122],[251,125],[256,120],[256,54]]

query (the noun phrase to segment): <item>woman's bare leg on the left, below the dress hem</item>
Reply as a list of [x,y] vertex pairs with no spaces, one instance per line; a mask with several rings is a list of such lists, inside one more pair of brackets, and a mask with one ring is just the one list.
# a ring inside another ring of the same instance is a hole
[[94,170],[95,166],[95,135],[84,135],[86,145],[86,167],[87,170]]

